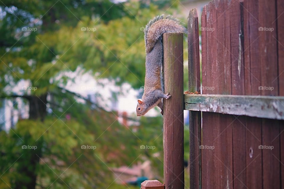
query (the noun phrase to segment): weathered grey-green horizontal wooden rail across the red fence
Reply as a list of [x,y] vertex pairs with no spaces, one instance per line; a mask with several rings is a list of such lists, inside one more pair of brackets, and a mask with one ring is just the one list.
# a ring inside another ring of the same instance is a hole
[[184,94],[184,109],[284,120],[284,97]]

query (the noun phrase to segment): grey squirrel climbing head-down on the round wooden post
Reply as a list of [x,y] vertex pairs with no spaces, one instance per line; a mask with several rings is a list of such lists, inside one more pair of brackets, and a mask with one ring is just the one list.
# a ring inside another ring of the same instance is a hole
[[169,99],[169,93],[164,94],[164,84],[162,76],[163,65],[163,33],[180,32],[186,33],[186,28],[180,24],[180,20],[171,15],[159,15],[150,20],[144,30],[146,49],[146,74],[144,93],[142,99],[138,99],[136,107],[137,116],[145,115],[156,105],[161,108],[163,115],[162,99]]

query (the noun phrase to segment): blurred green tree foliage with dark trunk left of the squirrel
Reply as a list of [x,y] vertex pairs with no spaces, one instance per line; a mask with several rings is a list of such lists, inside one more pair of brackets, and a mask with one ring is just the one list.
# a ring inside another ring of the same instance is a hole
[[[1,1],[0,96],[23,99],[29,119],[0,132],[0,188],[117,188],[109,167],[144,157],[156,161],[162,175],[161,161],[153,156],[163,157],[160,118],[142,118],[135,134],[118,123],[116,113],[94,109],[62,86],[75,79],[67,72],[143,86],[143,26],[169,4],[178,5],[169,0]],[[36,90],[12,93],[23,80]],[[156,149],[141,156],[144,144]]]

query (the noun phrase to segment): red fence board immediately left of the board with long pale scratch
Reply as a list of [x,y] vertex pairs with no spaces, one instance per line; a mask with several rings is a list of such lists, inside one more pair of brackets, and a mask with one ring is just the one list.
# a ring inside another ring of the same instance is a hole
[[[215,0],[215,4],[217,8],[217,75],[214,75],[214,87],[217,87],[215,91],[217,94],[231,94],[230,2]],[[214,139],[216,143],[219,143],[217,145],[219,150],[216,148],[214,150],[218,157],[215,158],[220,163],[220,188],[233,188],[232,117],[231,115],[219,115],[217,126],[219,132]]]

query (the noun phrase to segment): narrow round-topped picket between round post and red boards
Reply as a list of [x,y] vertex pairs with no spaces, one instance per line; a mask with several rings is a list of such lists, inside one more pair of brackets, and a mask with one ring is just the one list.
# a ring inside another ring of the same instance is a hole
[[[196,9],[188,15],[188,90],[200,92],[199,24]],[[201,112],[189,111],[190,188],[201,189]]]

